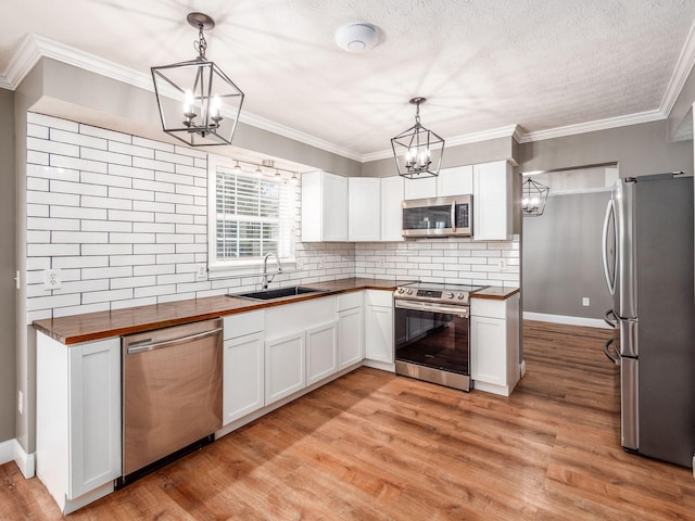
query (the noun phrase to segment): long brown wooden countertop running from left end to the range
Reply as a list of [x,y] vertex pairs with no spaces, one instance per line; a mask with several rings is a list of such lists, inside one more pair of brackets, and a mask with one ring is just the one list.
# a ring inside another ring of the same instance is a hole
[[34,321],[37,331],[49,335],[63,344],[78,344],[93,340],[121,336],[140,331],[178,326],[211,318],[251,312],[265,307],[279,306],[288,302],[320,298],[338,293],[361,290],[393,291],[404,281],[382,279],[340,279],[330,282],[301,284],[325,290],[321,293],[308,293],[300,296],[279,298],[273,302],[256,302],[230,296],[210,296],[179,302],[168,302],[151,306],[130,307],[112,312],[89,313]]

